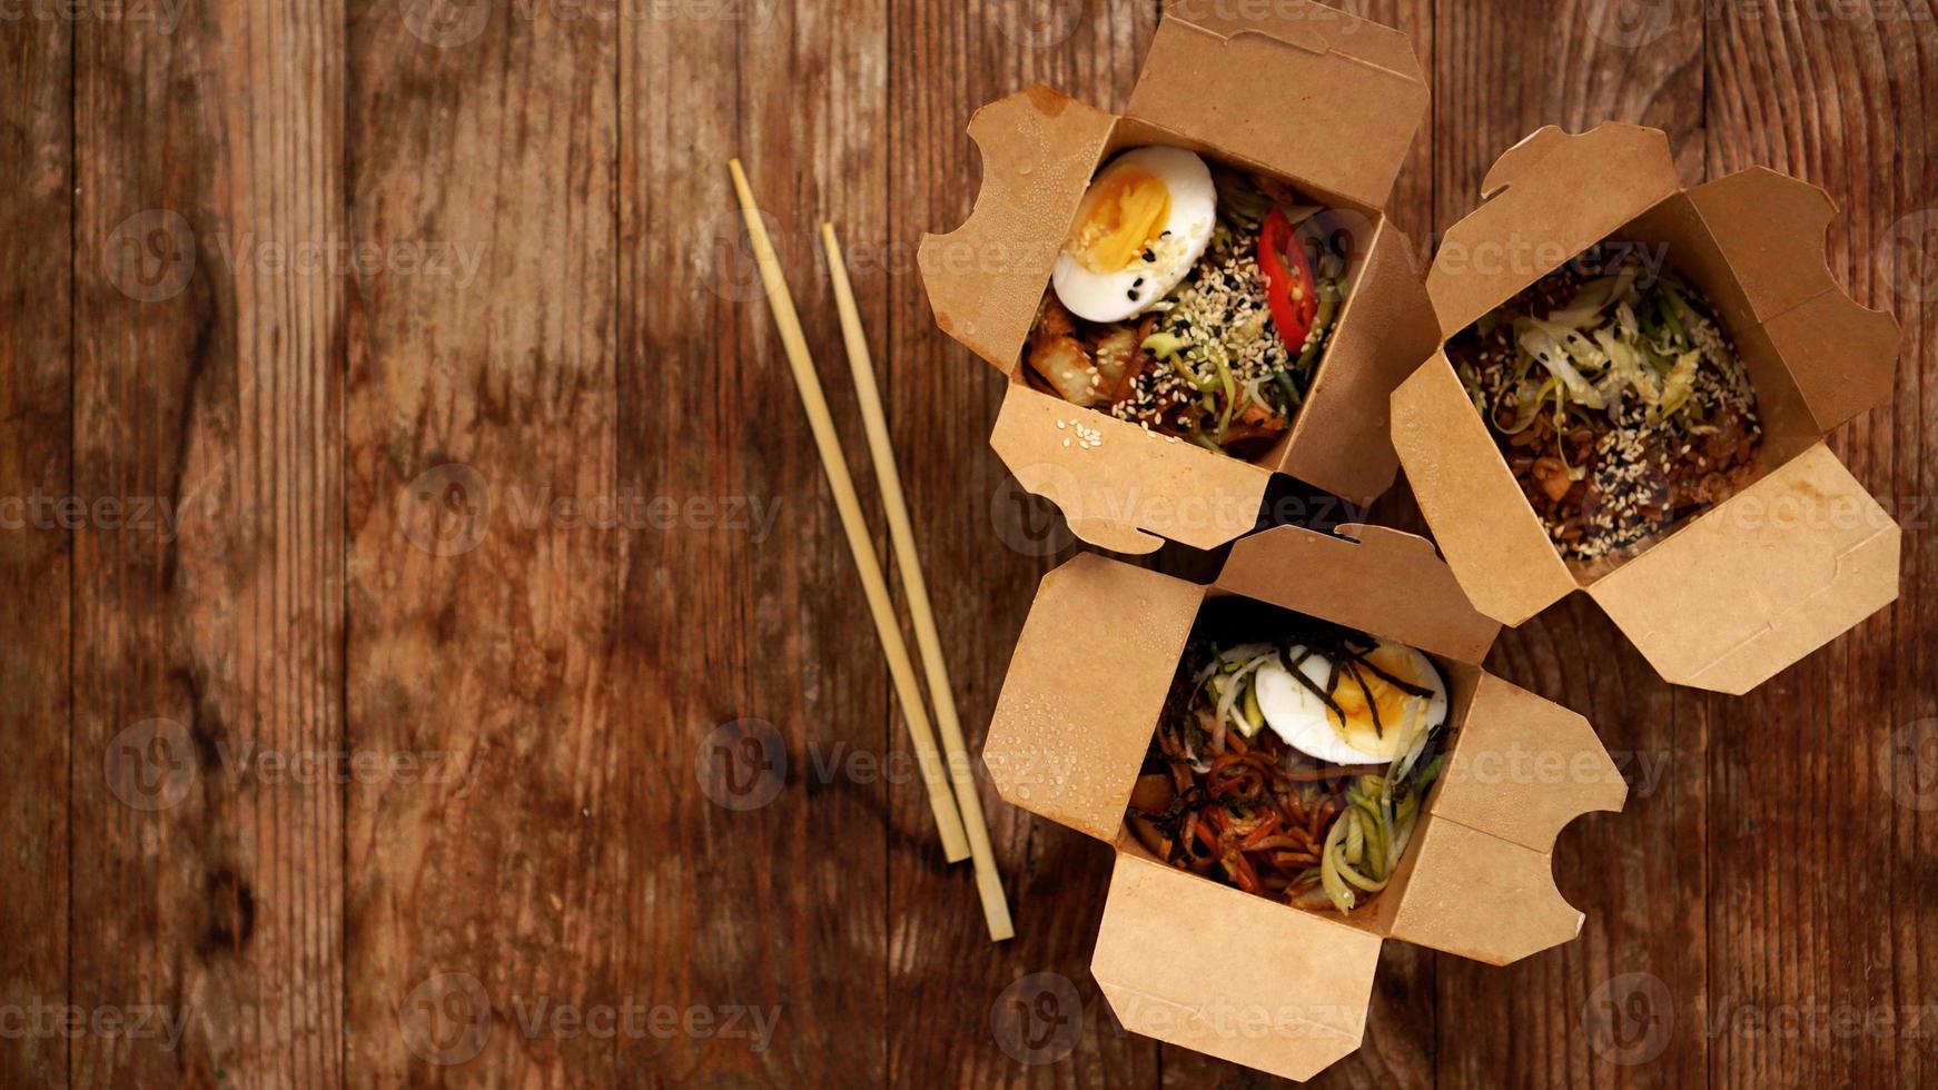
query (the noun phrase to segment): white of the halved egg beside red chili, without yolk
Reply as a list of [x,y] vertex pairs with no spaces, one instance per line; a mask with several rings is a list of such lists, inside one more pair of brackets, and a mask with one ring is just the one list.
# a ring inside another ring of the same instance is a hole
[[[1153,261],[1132,257],[1124,269],[1089,269],[1068,246],[1056,256],[1050,273],[1056,298],[1089,321],[1124,321],[1163,300],[1203,257],[1217,223],[1217,186],[1198,155],[1182,147],[1138,147],[1099,170],[1091,190],[1116,170],[1143,170],[1165,186],[1171,207],[1161,232],[1171,234],[1149,246]],[[1083,207],[1089,207],[1089,192]]]

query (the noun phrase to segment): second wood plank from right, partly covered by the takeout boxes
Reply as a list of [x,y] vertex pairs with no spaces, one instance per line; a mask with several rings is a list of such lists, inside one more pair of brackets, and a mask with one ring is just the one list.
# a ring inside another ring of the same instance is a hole
[[[1436,228],[1479,203],[1494,157],[1543,124],[1663,128],[1684,182],[1702,180],[1702,35],[1688,4],[1436,4]],[[1585,817],[1556,846],[1556,881],[1587,912],[1576,943],[1504,970],[1438,958],[1438,1080],[1700,1082],[1705,1044],[1688,1028],[1705,995],[1707,720],[1676,714],[1585,598],[1504,633],[1488,664],[1585,714],[1632,792],[1626,813]]]

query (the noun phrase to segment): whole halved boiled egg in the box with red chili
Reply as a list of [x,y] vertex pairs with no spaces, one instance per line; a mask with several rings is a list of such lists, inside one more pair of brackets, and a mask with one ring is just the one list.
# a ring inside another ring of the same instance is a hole
[[1203,257],[1217,219],[1217,186],[1182,147],[1138,147],[1091,178],[1050,285],[1078,318],[1143,314]]

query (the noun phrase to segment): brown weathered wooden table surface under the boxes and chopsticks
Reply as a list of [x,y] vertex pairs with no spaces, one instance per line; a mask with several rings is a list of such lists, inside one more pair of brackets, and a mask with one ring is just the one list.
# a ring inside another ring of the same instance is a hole
[[[1938,1080],[1938,12],[1357,8],[1430,66],[1422,248],[1547,122],[1829,190],[1835,275],[1905,329],[1831,445],[1907,536],[1899,602],[1744,699],[1661,683],[1579,596],[1508,633],[1490,668],[1636,782],[1556,850],[1587,925],[1512,968],[1390,943],[1322,1082]],[[1120,106],[1155,2],[0,15],[0,1082],[1264,1082],[1116,1026],[1109,850],[986,784],[1017,939],[985,939],[725,168],[878,511],[841,228],[977,743],[1076,550],[986,447],[1000,378],[915,246],[969,211],[967,114]]]

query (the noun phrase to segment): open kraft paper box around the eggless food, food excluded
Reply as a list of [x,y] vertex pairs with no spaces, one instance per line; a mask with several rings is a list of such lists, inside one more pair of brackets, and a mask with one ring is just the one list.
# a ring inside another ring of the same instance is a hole
[[1766,168],[1682,190],[1669,139],[1628,124],[1548,126],[1494,163],[1426,275],[1442,343],[1603,238],[1663,248],[1736,343],[1764,447],[1756,480],[1638,554],[1564,561],[1436,352],[1393,391],[1393,445],[1483,614],[1519,625],[1587,590],[1669,681],[1746,693],[1897,598],[1897,523],[1824,445],[1897,364],[1897,323],[1826,265],[1833,213]]

